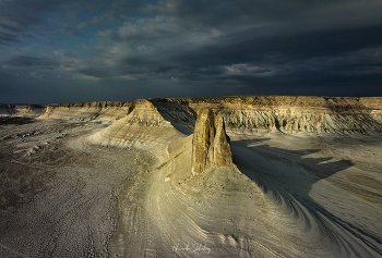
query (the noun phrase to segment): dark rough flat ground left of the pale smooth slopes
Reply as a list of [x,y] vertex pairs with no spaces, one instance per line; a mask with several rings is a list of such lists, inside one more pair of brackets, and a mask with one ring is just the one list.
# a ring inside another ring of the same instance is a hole
[[1,127],[1,257],[108,257],[119,186],[140,151],[81,145],[104,126]]

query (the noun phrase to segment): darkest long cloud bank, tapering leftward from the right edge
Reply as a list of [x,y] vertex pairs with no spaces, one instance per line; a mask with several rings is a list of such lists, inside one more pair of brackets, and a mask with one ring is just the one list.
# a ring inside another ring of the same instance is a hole
[[277,65],[378,47],[382,47],[382,26],[263,37],[258,37],[254,29],[234,33],[222,38],[222,41],[184,51],[175,59],[193,67],[251,62]]

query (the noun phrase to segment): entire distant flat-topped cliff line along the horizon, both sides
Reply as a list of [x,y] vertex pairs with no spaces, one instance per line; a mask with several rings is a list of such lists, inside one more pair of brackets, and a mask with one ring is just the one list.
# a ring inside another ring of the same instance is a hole
[[[210,108],[224,116],[230,130],[278,130],[285,133],[382,133],[382,97],[227,96],[148,99],[164,118],[184,116]],[[52,105],[0,105],[0,115],[80,121],[118,120],[133,101],[94,101]],[[177,115],[175,115],[177,114]]]

